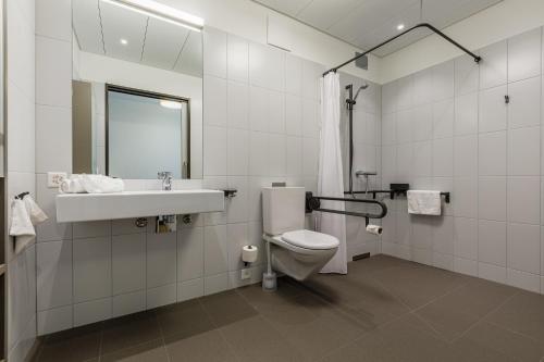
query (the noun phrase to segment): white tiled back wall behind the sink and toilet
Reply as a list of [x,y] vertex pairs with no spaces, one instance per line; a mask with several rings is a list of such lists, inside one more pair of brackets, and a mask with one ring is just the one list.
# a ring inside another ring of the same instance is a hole
[[[53,30],[61,32],[57,27]],[[53,54],[47,53],[52,49],[62,53],[71,38],[44,41],[58,43],[39,48],[46,54],[37,58],[37,67],[50,74],[41,78],[38,93],[47,89],[48,79],[55,78],[51,74],[62,73],[57,79],[64,79],[64,72],[71,72],[70,66],[49,62]],[[323,71],[322,65],[279,49],[206,29],[205,177],[176,182],[174,188],[233,187],[238,192],[226,201],[225,212],[193,215],[193,224],[181,223],[174,234],[154,234],[152,220],[147,229],[134,226],[134,220],[57,223],[55,191],[46,187],[45,172],[70,171],[71,139],[52,133],[50,127],[44,132],[38,127],[36,137],[41,141],[37,143],[44,149],[37,152],[58,152],[46,150],[52,142],[61,150],[69,147],[69,157],[47,153],[37,167],[38,201],[52,216],[38,230],[38,334],[259,282],[262,255],[251,265],[251,278],[240,280],[240,247],[261,246],[261,187],[287,182],[316,189],[318,80]],[[373,86],[360,98],[366,115],[361,113],[357,120],[369,129],[380,128],[379,97],[379,88]],[[63,97],[44,95],[39,100],[53,103],[47,105],[55,110],[70,111],[70,102]],[[60,116],[53,118],[64,122]],[[38,122],[47,120],[38,114]],[[70,129],[70,117],[66,121],[63,127]],[[360,139],[357,151],[372,147],[371,154],[378,158],[376,145],[373,137]],[[357,161],[367,162],[359,157]],[[371,165],[379,165],[378,159],[372,159]],[[160,188],[160,183],[135,182],[127,187]],[[372,250],[378,250],[376,241],[372,242]]]

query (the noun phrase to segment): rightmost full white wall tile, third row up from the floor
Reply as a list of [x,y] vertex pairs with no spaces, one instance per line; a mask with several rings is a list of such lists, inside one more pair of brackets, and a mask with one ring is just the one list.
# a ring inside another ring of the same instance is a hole
[[540,177],[508,177],[508,221],[539,224]]

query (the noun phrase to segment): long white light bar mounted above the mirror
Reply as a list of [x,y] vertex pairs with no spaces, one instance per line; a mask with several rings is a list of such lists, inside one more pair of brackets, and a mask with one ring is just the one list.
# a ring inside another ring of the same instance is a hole
[[124,8],[163,22],[180,25],[195,32],[203,28],[203,18],[187,14],[177,9],[164,5],[152,0],[101,0],[120,8]]

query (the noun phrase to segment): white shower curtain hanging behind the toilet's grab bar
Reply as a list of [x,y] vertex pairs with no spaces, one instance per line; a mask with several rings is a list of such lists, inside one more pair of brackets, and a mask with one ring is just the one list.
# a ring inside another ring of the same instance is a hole
[[[321,139],[319,148],[318,195],[344,197],[342,147],[339,138],[339,77],[329,73],[321,79]],[[321,201],[321,208],[344,211],[344,202]],[[346,219],[333,213],[320,214],[320,230],[338,238],[336,254],[321,273],[347,273]]]

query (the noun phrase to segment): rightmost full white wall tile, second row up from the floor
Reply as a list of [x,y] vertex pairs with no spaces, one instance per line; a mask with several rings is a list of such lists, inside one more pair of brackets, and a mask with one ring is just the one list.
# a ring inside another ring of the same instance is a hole
[[508,267],[532,274],[541,271],[539,225],[508,224]]

